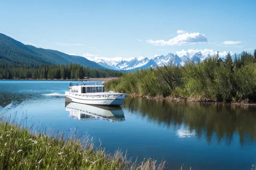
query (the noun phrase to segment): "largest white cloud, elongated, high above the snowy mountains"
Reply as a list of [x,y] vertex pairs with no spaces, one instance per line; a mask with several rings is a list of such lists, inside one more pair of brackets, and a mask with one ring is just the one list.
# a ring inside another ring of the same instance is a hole
[[201,33],[183,33],[179,34],[176,37],[169,39],[168,41],[161,40],[146,40],[148,43],[152,45],[185,45],[185,44],[194,44],[194,43],[205,43],[207,42],[207,38],[204,34]]

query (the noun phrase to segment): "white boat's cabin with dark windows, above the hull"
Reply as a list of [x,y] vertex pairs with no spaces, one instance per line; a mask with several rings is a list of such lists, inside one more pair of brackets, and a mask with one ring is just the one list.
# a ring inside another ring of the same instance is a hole
[[84,82],[73,84],[72,82],[69,85],[69,92],[73,93],[102,93],[104,92],[104,82]]

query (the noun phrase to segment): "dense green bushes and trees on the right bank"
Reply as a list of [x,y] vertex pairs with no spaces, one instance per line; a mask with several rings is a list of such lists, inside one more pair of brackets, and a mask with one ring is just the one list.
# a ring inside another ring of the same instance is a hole
[[105,83],[106,90],[130,96],[190,102],[256,103],[256,50],[232,61],[212,56],[185,66],[160,66],[124,73]]

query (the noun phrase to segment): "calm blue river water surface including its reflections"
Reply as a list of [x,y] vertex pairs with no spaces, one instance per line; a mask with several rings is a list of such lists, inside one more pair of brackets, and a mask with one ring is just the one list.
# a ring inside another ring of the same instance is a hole
[[[96,145],[100,139],[109,152],[128,150],[139,161],[164,159],[170,170],[251,170],[256,164],[255,106],[126,98],[120,108],[86,107],[65,103],[68,86],[69,81],[1,80],[0,112],[17,119],[27,114],[36,127],[77,127],[77,134],[89,134]],[[85,114],[92,112],[110,117]]]

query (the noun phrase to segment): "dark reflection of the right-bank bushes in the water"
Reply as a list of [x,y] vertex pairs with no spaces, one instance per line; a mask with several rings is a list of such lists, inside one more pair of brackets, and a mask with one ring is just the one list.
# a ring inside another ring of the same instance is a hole
[[174,127],[179,137],[196,135],[211,143],[214,133],[218,143],[230,145],[235,133],[240,144],[256,141],[256,107],[231,104],[203,104],[127,98],[124,104],[132,114],[140,114],[166,128]]

